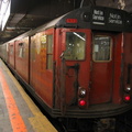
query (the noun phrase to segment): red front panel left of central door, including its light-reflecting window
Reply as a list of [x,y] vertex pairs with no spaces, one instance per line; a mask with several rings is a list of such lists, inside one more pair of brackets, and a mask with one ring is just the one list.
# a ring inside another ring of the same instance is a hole
[[62,110],[66,110],[67,108],[69,109],[69,107],[72,108],[78,106],[78,89],[80,87],[85,88],[88,91],[90,75],[90,30],[62,30]]

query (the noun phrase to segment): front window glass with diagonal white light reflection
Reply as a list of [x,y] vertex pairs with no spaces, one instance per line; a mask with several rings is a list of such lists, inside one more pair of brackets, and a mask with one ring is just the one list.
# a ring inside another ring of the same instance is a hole
[[66,33],[65,59],[85,59],[86,34],[82,32]]

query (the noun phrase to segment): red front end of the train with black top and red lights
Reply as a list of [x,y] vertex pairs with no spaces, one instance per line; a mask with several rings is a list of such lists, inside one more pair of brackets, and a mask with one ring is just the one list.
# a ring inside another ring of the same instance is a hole
[[79,9],[58,22],[56,113],[109,119],[132,108],[131,26],[130,14],[107,8]]

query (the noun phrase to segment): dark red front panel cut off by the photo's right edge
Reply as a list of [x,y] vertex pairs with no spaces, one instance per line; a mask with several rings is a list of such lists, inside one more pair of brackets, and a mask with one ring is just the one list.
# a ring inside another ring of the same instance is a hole
[[123,89],[124,95],[132,96],[132,33],[124,33],[123,37]]

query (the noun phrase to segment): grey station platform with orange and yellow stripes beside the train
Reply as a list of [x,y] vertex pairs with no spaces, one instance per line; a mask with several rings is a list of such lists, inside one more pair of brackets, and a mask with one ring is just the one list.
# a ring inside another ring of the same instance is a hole
[[57,132],[1,59],[0,132]]

